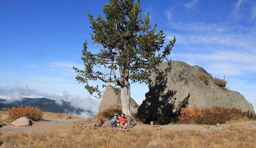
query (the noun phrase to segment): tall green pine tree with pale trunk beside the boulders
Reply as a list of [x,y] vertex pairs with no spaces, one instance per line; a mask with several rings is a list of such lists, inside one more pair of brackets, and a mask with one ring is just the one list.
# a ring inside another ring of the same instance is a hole
[[[84,86],[90,95],[97,92],[100,98],[104,91],[99,86],[90,86],[89,80],[101,80],[104,83],[114,83],[120,87],[122,111],[130,113],[130,82],[148,83],[149,76],[156,66],[167,60],[176,41],[174,39],[166,45],[160,54],[166,37],[163,30],[156,33],[157,24],[150,25],[149,12],[144,21],[141,15],[140,1],[110,0],[103,5],[105,17],[98,15],[97,19],[89,13],[93,43],[100,47],[100,52],[92,54],[87,51],[87,41],[84,43],[81,59],[85,70],[74,68],[79,83]],[[100,72],[95,68],[104,67],[109,72]],[[113,86],[113,87],[115,87]],[[105,85],[103,85],[103,88]]]

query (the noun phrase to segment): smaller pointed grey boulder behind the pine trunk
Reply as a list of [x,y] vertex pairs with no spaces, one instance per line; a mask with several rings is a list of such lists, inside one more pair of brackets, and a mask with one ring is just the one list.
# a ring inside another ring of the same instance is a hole
[[[111,87],[111,85],[108,85],[105,89],[105,92],[100,102],[99,112],[103,112],[104,110],[109,109],[111,107],[122,109],[121,95],[119,92],[120,89]],[[137,113],[138,107],[139,105],[132,98],[130,98],[131,112]]]

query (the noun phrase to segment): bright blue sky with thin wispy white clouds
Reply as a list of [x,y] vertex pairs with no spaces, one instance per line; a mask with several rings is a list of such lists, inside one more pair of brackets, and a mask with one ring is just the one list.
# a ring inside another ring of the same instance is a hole
[[[0,98],[44,96],[97,112],[100,100],[78,84],[72,67],[83,68],[86,39],[88,50],[99,52],[87,14],[103,16],[104,3],[1,1]],[[169,59],[201,66],[213,77],[225,75],[230,90],[256,106],[256,1],[141,0],[141,9],[143,16],[150,12],[151,25],[164,30],[167,42],[176,36]],[[147,91],[146,84],[131,85],[138,104]]]

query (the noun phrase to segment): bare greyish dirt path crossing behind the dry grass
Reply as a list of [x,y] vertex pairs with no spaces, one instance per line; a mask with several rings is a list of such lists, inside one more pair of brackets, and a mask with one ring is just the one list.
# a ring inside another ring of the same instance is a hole
[[[84,128],[93,127],[95,123],[88,119],[83,118],[73,118],[73,119],[60,119],[60,118],[46,118],[40,122],[33,122],[32,126],[15,126],[15,125],[6,125],[0,128],[0,132],[9,132],[9,133],[20,133],[20,132],[40,132],[40,131],[56,131],[56,130],[70,130],[75,128],[77,125],[83,126]],[[249,127],[256,129],[256,121],[252,120],[239,120],[234,123],[229,124],[221,124],[220,126],[210,125],[210,128],[207,129],[204,125],[159,125],[159,127],[153,127],[152,125],[143,125],[141,127],[139,125],[135,125],[131,130],[135,129],[164,129],[164,130],[186,130],[186,129],[194,129],[202,132],[207,132],[211,129],[222,130],[223,128],[228,128],[231,125],[243,125],[244,127]],[[110,128],[107,127],[99,127],[99,128]]]

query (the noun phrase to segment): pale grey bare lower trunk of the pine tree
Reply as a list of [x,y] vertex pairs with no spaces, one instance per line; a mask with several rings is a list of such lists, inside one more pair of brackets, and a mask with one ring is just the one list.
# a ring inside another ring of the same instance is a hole
[[122,112],[125,115],[131,116],[130,111],[130,84],[126,84],[121,87],[121,102],[122,102]]

